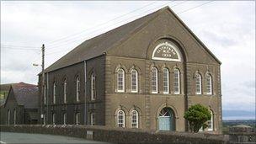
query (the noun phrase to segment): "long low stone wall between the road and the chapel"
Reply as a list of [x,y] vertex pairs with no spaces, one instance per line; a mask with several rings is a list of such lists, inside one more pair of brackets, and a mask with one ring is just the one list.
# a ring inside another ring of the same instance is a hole
[[74,136],[111,143],[226,144],[223,135],[188,132],[145,131],[88,125],[0,125],[0,131]]

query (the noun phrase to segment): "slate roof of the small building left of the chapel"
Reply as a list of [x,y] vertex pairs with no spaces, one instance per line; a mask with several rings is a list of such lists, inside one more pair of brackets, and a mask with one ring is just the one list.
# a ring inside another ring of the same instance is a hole
[[[11,85],[13,95],[19,105],[24,105],[25,109],[38,108],[39,93],[38,87],[29,83],[13,83]],[[8,97],[11,93],[8,93]],[[6,102],[8,98],[6,99]],[[6,103],[7,104],[7,103]]]

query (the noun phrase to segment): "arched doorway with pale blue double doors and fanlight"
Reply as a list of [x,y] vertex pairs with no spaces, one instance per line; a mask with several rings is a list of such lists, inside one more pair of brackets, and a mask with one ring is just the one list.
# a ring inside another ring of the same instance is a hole
[[158,115],[158,128],[161,131],[175,131],[173,109],[163,108]]

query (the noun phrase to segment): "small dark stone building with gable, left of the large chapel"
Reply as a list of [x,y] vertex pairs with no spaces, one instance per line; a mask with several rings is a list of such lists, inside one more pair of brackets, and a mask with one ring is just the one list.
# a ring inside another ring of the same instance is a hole
[[1,125],[37,124],[38,100],[36,85],[11,84],[5,103],[1,105]]

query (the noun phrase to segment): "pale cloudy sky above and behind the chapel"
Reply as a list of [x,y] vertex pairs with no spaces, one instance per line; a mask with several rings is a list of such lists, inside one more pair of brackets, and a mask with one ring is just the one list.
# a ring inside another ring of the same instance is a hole
[[1,83],[36,84],[42,44],[49,67],[84,40],[165,6],[221,61],[222,109],[255,114],[254,1],[1,1]]

